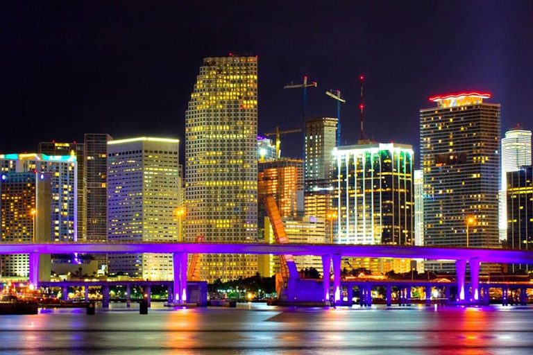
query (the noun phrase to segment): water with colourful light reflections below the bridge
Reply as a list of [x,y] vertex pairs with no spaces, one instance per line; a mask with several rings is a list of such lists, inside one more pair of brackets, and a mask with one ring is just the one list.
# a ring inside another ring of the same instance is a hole
[[0,315],[0,354],[533,354],[533,307],[42,310]]

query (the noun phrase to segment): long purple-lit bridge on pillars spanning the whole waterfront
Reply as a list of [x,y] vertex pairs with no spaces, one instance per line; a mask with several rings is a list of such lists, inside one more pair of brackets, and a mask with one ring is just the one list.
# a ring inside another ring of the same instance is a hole
[[[479,302],[480,263],[533,264],[533,252],[502,249],[433,248],[400,245],[330,245],[330,244],[226,244],[226,243],[42,243],[1,244],[0,254],[30,254],[30,283],[39,284],[39,255],[65,253],[169,253],[174,257],[174,303],[187,302],[188,254],[292,254],[322,257],[323,275],[333,271],[334,304],[341,301],[341,258],[383,257],[397,259],[429,259],[455,261],[457,270],[457,300]],[[466,288],[466,262],[470,265],[471,294]],[[290,284],[289,280],[289,284]],[[290,285],[289,285],[290,286]],[[330,278],[323,277],[321,300],[330,302]],[[389,292],[389,291],[388,291]],[[487,293],[487,292],[485,292]],[[170,294],[170,293],[169,293]],[[296,299],[296,296],[295,296]]]

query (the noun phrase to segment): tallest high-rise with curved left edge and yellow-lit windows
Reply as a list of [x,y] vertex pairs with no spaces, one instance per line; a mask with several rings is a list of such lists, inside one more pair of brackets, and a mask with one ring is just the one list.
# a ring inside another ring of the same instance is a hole
[[[205,58],[185,112],[187,241],[257,241],[257,57]],[[207,254],[201,278],[257,272],[252,255]]]

